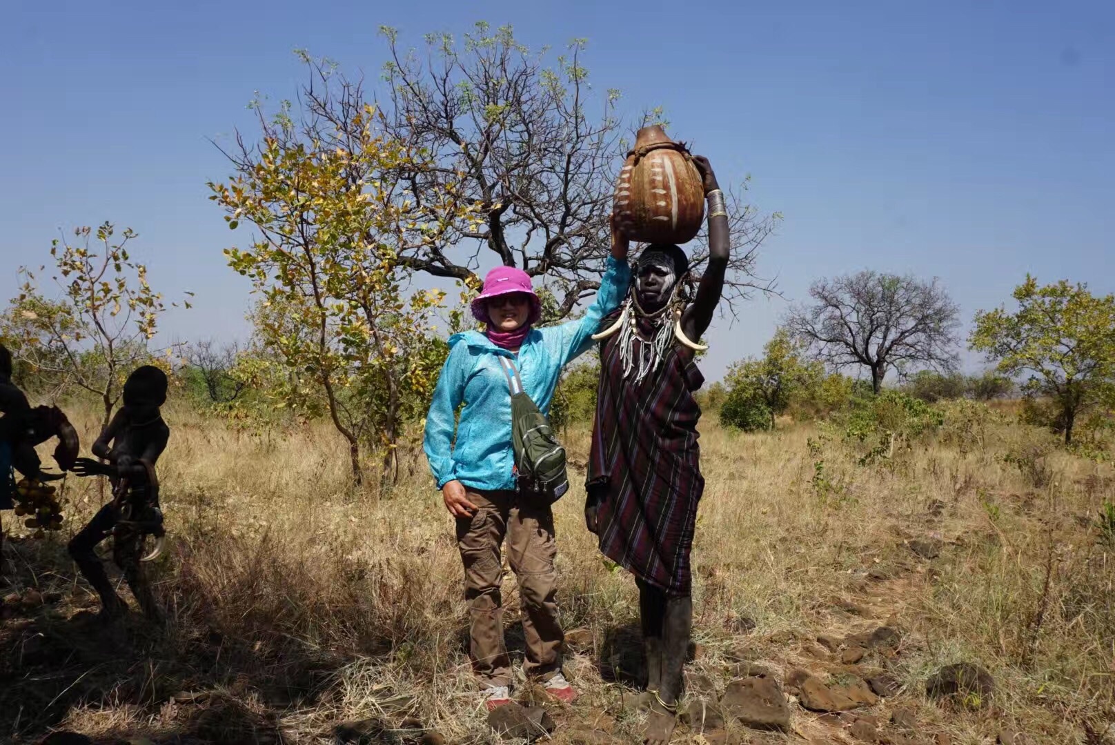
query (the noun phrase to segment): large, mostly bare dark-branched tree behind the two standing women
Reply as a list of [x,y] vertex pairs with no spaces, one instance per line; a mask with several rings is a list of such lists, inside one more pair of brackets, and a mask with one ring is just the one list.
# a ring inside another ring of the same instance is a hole
[[[413,199],[415,220],[439,229],[438,240],[400,245],[398,264],[468,284],[478,283],[476,272],[491,260],[517,265],[545,279],[559,315],[568,316],[599,288],[610,249],[614,176],[629,148],[619,91],[592,94],[581,61],[584,40],[551,60],[546,50],[518,43],[506,26],[477,23],[460,43],[428,35],[420,51],[400,46],[394,29],[381,33],[389,50],[379,101],[386,133],[424,154],[423,167],[404,162],[391,177]],[[303,116],[347,132],[367,105],[362,80],[329,60],[301,57],[309,72],[299,95]],[[245,171],[258,158],[242,148],[234,162]],[[754,270],[777,219],[737,199],[744,187],[729,210],[729,307],[754,288],[768,289]],[[476,211],[454,217],[447,199]],[[704,240],[687,246],[696,274],[706,246]]]

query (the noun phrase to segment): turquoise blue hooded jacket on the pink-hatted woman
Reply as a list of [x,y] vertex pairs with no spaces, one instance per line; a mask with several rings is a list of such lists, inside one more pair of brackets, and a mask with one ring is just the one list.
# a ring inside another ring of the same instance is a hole
[[[619,308],[630,281],[627,262],[609,257],[600,291],[584,316],[533,329],[518,355],[501,349],[479,331],[449,337],[449,358],[437,379],[423,442],[438,488],[454,478],[485,491],[515,487],[511,391],[497,357],[515,360],[523,389],[549,415],[562,368],[592,347],[592,335],[600,321]],[[465,407],[454,442],[454,413],[462,401]]]

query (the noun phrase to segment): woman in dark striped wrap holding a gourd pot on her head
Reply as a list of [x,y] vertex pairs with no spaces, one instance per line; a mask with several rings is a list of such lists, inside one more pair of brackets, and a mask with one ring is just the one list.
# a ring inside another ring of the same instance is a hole
[[646,742],[673,733],[692,626],[689,551],[700,473],[694,398],[704,378],[695,352],[720,300],[728,264],[728,215],[707,158],[694,158],[708,200],[709,258],[697,287],[685,252],[651,244],[636,262],[628,299],[594,338],[602,340],[584,516],[600,550],[634,574],[643,652]]

